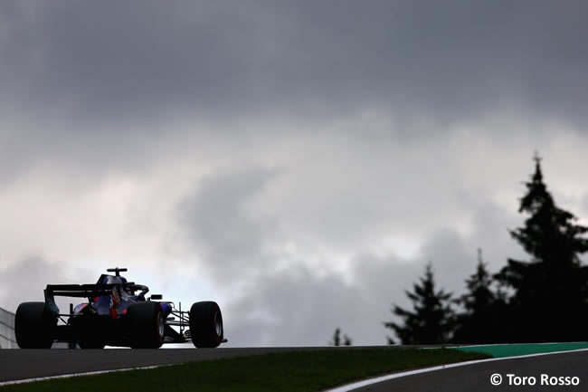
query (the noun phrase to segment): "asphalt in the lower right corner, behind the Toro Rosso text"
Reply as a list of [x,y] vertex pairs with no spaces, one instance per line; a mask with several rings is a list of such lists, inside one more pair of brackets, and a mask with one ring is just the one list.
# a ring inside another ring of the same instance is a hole
[[[490,377],[498,373],[502,377],[499,386],[490,383]],[[535,386],[508,385],[507,374],[536,378]],[[549,377],[577,377],[577,386],[549,386],[541,384],[541,374]],[[539,357],[504,359],[446,368],[429,373],[394,378],[367,387],[354,389],[357,392],[498,392],[498,391],[587,391],[588,352],[568,352]]]

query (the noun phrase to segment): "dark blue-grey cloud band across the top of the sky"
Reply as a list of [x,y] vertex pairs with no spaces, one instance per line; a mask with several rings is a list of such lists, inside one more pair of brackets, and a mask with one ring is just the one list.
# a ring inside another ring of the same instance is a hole
[[10,23],[0,78],[33,115],[377,108],[441,120],[497,110],[585,120],[580,1],[2,6]]

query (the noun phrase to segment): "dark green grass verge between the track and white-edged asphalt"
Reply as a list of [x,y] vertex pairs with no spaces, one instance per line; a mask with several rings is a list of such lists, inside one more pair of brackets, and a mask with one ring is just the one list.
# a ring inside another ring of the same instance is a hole
[[489,356],[457,349],[321,349],[190,362],[97,376],[57,378],[0,387],[0,390],[318,391],[394,371],[485,358]]

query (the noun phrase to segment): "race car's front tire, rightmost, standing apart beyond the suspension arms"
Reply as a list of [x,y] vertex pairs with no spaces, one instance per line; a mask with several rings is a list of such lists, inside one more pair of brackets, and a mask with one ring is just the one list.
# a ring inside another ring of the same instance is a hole
[[216,302],[202,301],[192,305],[190,335],[198,349],[213,349],[223,342],[223,314]]

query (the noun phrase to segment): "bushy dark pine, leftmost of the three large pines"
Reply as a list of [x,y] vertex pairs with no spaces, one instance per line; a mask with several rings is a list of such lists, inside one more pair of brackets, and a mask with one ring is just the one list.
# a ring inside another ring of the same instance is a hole
[[[436,291],[431,263],[420,282],[413,284],[413,292],[406,291],[406,295],[413,301],[413,311],[394,305],[393,313],[403,319],[403,324],[391,321],[385,322],[384,327],[394,330],[403,344],[447,342],[453,322],[451,293]],[[392,339],[388,341],[391,343]]]

